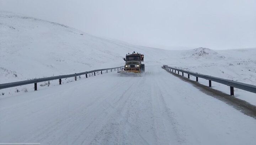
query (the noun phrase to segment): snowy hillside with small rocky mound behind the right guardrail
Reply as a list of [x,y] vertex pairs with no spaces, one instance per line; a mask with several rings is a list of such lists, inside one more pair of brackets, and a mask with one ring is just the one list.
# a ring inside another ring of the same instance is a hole
[[255,56],[256,48],[215,51],[199,47],[183,52],[183,60],[168,64],[196,73],[256,85]]

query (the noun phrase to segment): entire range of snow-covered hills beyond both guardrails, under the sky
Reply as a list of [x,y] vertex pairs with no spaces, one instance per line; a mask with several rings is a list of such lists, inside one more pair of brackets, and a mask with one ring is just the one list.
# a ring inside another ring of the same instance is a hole
[[[0,34],[0,83],[121,66],[125,54],[136,51],[145,54],[146,66],[166,64],[256,85],[256,48],[162,50],[4,11],[0,11]],[[229,90],[227,86],[220,89]],[[13,92],[9,90],[9,94]]]

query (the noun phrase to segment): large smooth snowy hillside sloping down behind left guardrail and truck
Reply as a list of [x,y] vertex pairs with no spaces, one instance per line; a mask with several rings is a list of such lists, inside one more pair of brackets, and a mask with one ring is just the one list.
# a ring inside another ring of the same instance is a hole
[[133,51],[160,64],[155,54],[166,54],[10,12],[0,12],[0,34],[0,83],[121,66]]

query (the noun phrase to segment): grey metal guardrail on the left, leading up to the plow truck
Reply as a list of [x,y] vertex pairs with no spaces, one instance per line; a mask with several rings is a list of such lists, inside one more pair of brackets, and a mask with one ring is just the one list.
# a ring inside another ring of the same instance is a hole
[[117,70],[121,70],[123,69],[123,66],[119,66],[119,67],[116,67],[116,68],[107,68],[107,69],[96,69],[96,70],[91,70],[91,71],[85,71],[85,72],[82,72],[82,73],[75,73],[75,74],[70,74],[70,75],[59,75],[59,76],[52,76],[52,77],[44,77],[44,78],[40,78],[40,79],[33,79],[33,80],[26,80],[26,81],[19,81],[19,82],[11,82],[11,83],[3,83],[3,84],[0,84],[0,89],[4,89],[4,88],[10,88],[10,87],[17,87],[17,86],[22,86],[22,85],[28,85],[28,84],[32,84],[34,83],[34,91],[37,91],[37,83],[38,82],[45,82],[45,81],[51,81],[51,80],[59,80],[59,85],[61,85],[61,82],[63,78],[69,78],[69,77],[75,77],[75,81],[76,81],[76,77],[77,76],[80,76],[80,75],[85,75],[86,78],[87,78],[87,74],[90,74],[90,73],[94,73],[94,76],[95,76],[95,72],[101,72],[102,74],[102,71],[107,71],[108,70],[114,70],[116,71]]

